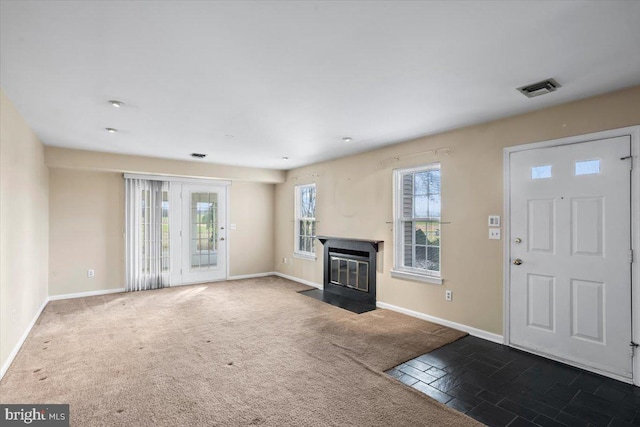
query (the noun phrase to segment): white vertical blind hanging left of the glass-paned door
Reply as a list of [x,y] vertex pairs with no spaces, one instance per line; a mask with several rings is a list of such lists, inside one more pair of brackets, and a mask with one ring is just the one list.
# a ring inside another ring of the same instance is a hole
[[126,290],[169,286],[169,183],[125,178]]

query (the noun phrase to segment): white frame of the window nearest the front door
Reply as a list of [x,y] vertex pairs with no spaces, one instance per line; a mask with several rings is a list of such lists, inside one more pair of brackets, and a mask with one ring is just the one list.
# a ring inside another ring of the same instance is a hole
[[[394,260],[391,277],[399,279],[415,280],[419,282],[432,283],[442,285],[442,233],[440,234],[440,271],[426,270],[414,267],[405,267],[404,260],[404,218],[402,209],[402,177],[405,174],[413,174],[417,172],[425,172],[429,170],[441,170],[440,163],[429,163],[417,167],[394,169],[393,171],[393,229],[394,229]],[[442,190],[441,190],[442,191]],[[441,193],[442,194],[442,193]],[[442,206],[442,196],[440,197],[440,206]],[[433,218],[411,218],[413,221],[430,221]],[[442,221],[442,212],[438,221]]]

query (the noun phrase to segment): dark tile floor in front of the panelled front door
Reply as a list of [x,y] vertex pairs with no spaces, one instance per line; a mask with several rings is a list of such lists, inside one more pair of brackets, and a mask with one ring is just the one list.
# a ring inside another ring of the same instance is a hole
[[387,374],[489,426],[640,426],[640,388],[467,336]]

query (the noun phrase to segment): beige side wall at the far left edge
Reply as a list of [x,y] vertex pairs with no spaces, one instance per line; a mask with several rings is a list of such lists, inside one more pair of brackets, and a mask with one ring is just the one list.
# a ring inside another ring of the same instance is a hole
[[0,366],[47,299],[49,170],[44,148],[0,91]]

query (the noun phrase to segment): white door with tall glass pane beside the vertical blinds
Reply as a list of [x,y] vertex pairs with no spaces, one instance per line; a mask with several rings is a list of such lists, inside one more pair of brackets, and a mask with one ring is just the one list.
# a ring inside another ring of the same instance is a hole
[[182,284],[227,278],[226,190],[182,184]]

